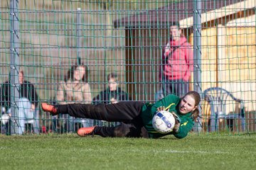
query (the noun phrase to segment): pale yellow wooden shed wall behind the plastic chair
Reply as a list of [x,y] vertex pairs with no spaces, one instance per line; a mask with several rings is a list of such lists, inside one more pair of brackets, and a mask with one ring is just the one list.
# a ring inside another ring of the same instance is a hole
[[242,98],[247,111],[255,111],[255,35],[255,27],[218,26],[202,30],[201,39],[202,90],[223,87]]

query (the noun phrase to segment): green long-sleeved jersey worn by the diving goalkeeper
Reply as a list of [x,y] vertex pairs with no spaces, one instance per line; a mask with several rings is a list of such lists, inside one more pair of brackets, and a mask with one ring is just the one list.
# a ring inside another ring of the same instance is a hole
[[[144,127],[149,132],[149,137],[158,138],[163,137],[165,135],[174,135],[175,137],[181,139],[188,135],[188,132],[193,128],[194,122],[192,118],[192,113],[187,113],[186,115],[181,114],[178,111],[178,103],[180,103],[181,98],[175,96],[173,94],[168,95],[156,103],[145,103],[142,107],[141,117],[144,123]],[[178,129],[178,132],[174,134],[174,132],[169,132],[166,134],[161,134],[156,132],[152,126],[152,118],[157,111],[157,108],[160,106],[164,106],[165,108],[169,108],[169,111],[174,111],[178,117],[181,119],[181,126]]]

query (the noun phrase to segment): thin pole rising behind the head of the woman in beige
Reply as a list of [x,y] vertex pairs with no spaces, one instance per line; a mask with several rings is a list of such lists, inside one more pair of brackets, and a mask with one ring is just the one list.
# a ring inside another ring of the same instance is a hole
[[81,8],[78,8],[78,12],[77,12],[77,24],[76,24],[76,32],[77,32],[77,62],[78,64],[81,64],[81,57],[80,57],[80,53],[81,53]]

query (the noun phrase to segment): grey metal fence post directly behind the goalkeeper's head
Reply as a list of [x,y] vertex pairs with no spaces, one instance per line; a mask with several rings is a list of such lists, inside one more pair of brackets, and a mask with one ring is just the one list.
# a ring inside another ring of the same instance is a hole
[[[199,94],[202,94],[201,86],[201,13],[202,13],[202,1],[193,1],[193,59],[194,59],[194,69],[193,69],[193,89]],[[201,107],[198,107],[201,113]],[[195,123],[195,131],[200,132],[201,120]]]

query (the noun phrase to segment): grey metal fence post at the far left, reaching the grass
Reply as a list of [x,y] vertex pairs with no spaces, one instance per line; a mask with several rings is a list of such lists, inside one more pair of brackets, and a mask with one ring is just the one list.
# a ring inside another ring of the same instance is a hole
[[11,84],[11,134],[18,132],[18,98],[19,98],[19,55],[18,55],[18,0],[10,1],[10,21],[11,21],[11,40],[10,40],[10,79]]

